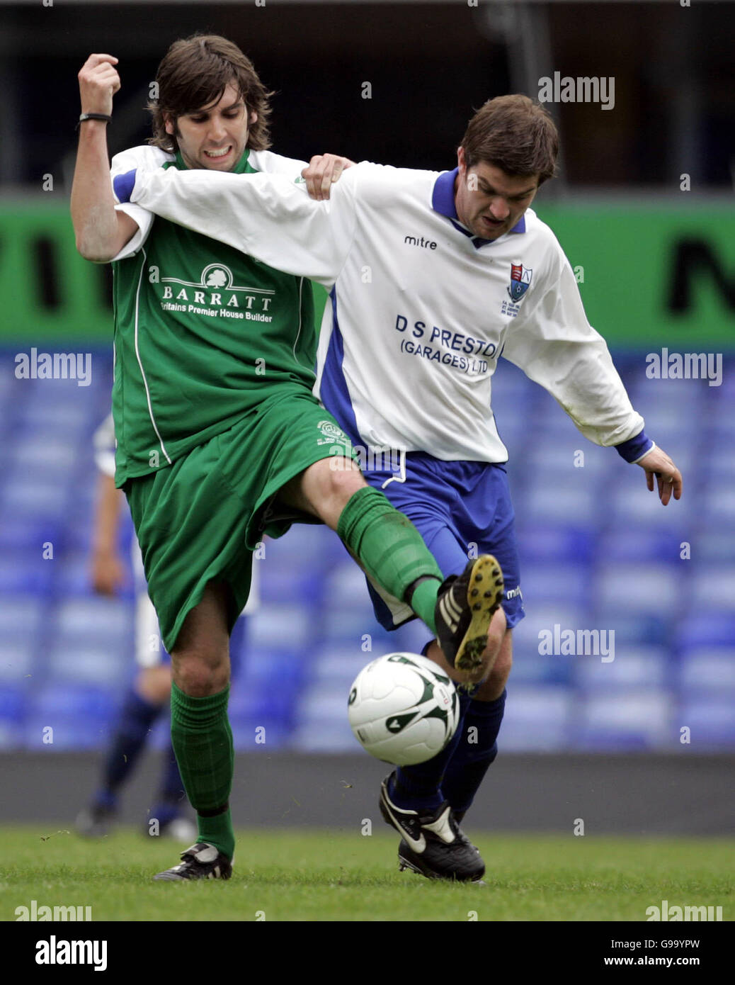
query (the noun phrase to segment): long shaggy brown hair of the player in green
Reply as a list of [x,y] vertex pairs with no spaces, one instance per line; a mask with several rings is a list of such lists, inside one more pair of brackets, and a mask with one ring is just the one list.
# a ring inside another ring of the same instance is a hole
[[274,94],[258,78],[250,59],[226,37],[194,34],[174,41],[158,66],[155,81],[158,99],[148,104],[153,116],[153,137],[149,143],[154,147],[177,151],[176,134],[166,133],[166,116],[175,126],[179,116],[221,99],[230,84],[244,99],[248,116],[253,109],[258,113],[257,122],[249,128],[247,146],[254,151],[265,151],[271,146],[269,100]]

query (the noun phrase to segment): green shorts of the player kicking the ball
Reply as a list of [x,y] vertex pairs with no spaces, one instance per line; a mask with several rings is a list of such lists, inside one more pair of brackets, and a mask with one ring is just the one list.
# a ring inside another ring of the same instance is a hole
[[186,614],[213,579],[231,590],[229,628],[250,592],[253,551],[295,520],[274,510],[276,493],[322,458],[356,458],[349,438],[310,394],[264,401],[236,425],[183,458],[124,486],[148,590],[170,652]]

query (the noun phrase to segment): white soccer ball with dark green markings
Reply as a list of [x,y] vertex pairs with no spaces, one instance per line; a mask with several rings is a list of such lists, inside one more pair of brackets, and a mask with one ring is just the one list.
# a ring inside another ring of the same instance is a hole
[[397,766],[441,753],[459,724],[454,684],[428,657],[389,653],[364,667],[347,699],[357,741],[370,755]]

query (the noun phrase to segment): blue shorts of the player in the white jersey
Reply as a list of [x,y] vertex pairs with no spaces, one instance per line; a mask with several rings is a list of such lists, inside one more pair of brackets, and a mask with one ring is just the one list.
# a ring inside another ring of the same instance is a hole
[[[402,458],[402,456],[401,456]],[[444,462],[426,452],[408,452],[405,468],[363,470],[418,529],[445,578],[460,574],[468,558],[491,554],[505,579],[503,611],[508,628],[521,622],[521,595],[515,513],[504,465]],[[397,629],[414,617],[404,603],[390,600],[368,581],[378,622]]]

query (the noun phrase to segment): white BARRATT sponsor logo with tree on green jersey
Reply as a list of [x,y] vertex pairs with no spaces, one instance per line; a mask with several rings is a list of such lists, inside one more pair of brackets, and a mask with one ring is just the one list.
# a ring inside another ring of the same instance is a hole
[[276,292],[248,288],[233,283],[232,271],[224,263],[210,263],[199,282],[178,277],[161,277],[160,306],[163,311],[205,315],[208,318],[239,318],[245,321],[273,321],[269,313]]

